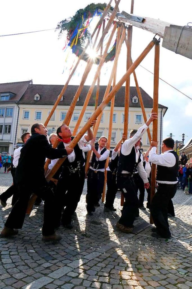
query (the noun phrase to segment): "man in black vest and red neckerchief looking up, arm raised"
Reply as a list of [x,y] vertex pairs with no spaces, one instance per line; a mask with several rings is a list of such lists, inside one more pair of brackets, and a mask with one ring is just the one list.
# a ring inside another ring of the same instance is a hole
[[[95,123],[95,120],[92,121],[91,126]],[[70,128],[65,124],[58,127],[57,135],[61,138],[58,148],[67,148],[74,138]],[[82,148],[88,141],[93,139],[93,137],[92,129],[89,127],[87,134],[82,136],[74,147],[72,154],[70,154],[62,164],[62,172],[58,179],[55,192],[58,201],[57,227],[59,227],[61,223],[64,228],[73,228],[73,225],[71,224],[72,215],[77,208],[85,183],[85,159],[83,157]],[[65,206],[65,208],[61,218],[63,206]]]

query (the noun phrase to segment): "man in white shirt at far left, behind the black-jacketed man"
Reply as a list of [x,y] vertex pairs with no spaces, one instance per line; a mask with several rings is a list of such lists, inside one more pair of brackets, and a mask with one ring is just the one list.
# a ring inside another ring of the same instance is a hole
[[[21,136],[22,142],[25,144],[26,141],[30,138],[30,136],[31,136],[30,132],[23,133]],[[19,157],[21,154],[22,147],[23,145],[17,148],[16,150],[14,150],[14,153],[13,153],[13,167],[11,168],[11,175],[13,177],[13,185],[10,186],[5,192],[3,192],[0,195],[0,203],[3,207],[7,206],[7,199],[10,198],[11,196],[13,196],[12,201],[11,201],[12,206],[14,206],[14,204],[18,200],[18,190],[17,190],[17,186],[15,185],[14,175],[15,175],[15,169],[19,162]]]

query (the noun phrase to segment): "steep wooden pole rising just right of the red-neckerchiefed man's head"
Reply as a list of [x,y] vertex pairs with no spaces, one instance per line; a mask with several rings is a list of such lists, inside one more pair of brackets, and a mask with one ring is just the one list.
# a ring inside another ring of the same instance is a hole
[[78,130],[78,128],[79,128],[79,125],[80,125],[80,123],[81,123],[81,121],[82,121],[82,118],[83,118],[83,115],[84,115],[85,110],[86,110],[86,108],[87,108],[87,105],[88,105],[88,102],[89,102],[89,100],[90,100],[91,94],[92,94],[93,89],[94,89],[94,87],[95,87],[95,82],[96,82],[96,80],[97,80],[97,78],[98,78],[98,76],[99,76],[99,73],[100,73],[100,71],[101,71],[101,67],[102,67],[103,64],[104,64],[105,58],[106,58],[106,56],[107,56],[107,51],[108,51],[108,49],[109,49],[109,46],[110,46],[110,43],[111,43],[112,38],[113,38],[113,36],[114,36],[114,33],[115,33],[116,28],[117,28],[117,25],[115,24],[114,27],[113,27],[113,30],[112,30],[112,32],[111,32],[111,35],[110,35],[110,37],[109,37],[109,40],[108,40],[108,42],[107,42],[106,48],[105,48],[105,50],[104,50],[104,54],[102,55],[101,60],[100,60],[100,62],[99,62],[99,65],[98,65],[97,71],[96,71],[96,73],[95,73],[94,79],[93,79],[93,81],[92,81],[92,84],[91,84],[91,86],[90,86],[90,88],[89,88],[89,91],[88,91],[88,93],[87,93],[87,96],[86,96],[86,98],[85,98],[85,102],[84,102],[84,104],[83,104],[81,113],[80,113],[80,115],[79,115],[79,118],[78,118],[78,120],[77,120],[77,122],[76,122],[76,125],[75,125],[75,128],[74,128],[74,130],[73,130],[73,134],[74,134],[74,135],[76,134],[76,132],[77,132],[77,130]]

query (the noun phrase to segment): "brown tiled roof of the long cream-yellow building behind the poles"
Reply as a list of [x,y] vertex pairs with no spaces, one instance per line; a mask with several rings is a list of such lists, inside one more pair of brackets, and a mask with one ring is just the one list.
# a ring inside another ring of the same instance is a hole
[[[59,105],[70,105],[78,87],[79,87],[78,85],[68,85],[64,93],[63,100],[59,102]],[[107,86],[105,85],[100,85],[99,104],[103,100],[106,87]],[[40,85],[40,84],[29,85],[25,94],[20,99],[19,104],[53,105],[57,99],[57,96],[60,94],[62,88],[63,85]],[[76,105],[82,106],[84,104],[85,97],[88,93],[89,88],[90,88],[89,85],[84,85],[83,90],[79,97],[79,101],[77,101]],[[91,95],[88,104],[90,106],[95,105],[96,90],[97,86],[95,86],[94,91]],[[143,97],[144,106],[153,107],[153,99],[142,88],[140,88],[140,91]],[[37,93],[41,96],[41,98],[40,100],[35,101],[34,96]],[[136,87],[130,87],[130,107],[140,107],[140,102],[133,103],[131,100],[132,97],[134,97],[135,95],[137,95]],[[124,99],[125,99],[125,86],[122,86],[121,89],[119,89],[119,91],[116,93],[115,106],[124,107]],[[167,109],[167,107],[161,104],[159,104],[159,107]]]

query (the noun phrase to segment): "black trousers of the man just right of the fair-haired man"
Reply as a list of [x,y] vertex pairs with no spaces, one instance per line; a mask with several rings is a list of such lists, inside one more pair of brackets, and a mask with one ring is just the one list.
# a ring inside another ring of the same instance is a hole
[[116,173],[107,171],[107,193],[105,198],[105,207],[113,207],[115,196],[117,193]]

